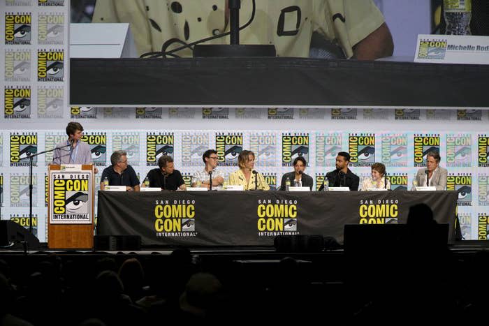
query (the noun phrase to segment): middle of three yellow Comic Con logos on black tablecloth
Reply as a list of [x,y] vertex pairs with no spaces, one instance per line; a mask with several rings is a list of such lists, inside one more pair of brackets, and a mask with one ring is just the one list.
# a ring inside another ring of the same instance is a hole
[[258,237],[298,235],[298,200],[259,199],[256,229]]

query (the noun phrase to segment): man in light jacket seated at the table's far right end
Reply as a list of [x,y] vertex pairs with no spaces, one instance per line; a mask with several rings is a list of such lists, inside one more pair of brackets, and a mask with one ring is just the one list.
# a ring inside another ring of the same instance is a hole
[[445,190],[448,171],[439,166],[440,160],[438,151],[426,154],[426,168],[421,168],[416,173],[412,190],[416,190],[416,186],[432,186],[437,190]]

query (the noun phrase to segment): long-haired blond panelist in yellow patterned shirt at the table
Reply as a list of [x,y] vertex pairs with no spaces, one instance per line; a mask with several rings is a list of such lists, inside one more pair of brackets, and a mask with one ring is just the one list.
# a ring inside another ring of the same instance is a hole
[[240,170],[229,175],[231,186],[243,186],[244,190],[270,190],[263,175],[254,170],[255,154],[252,151],[242,151],[238,156],[238,165]]

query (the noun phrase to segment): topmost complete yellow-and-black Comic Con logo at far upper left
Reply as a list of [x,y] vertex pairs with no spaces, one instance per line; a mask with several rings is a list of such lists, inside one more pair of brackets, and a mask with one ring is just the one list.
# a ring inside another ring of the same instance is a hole
[[5,14],[5,44],[30,45],[31,44],[31,13]]

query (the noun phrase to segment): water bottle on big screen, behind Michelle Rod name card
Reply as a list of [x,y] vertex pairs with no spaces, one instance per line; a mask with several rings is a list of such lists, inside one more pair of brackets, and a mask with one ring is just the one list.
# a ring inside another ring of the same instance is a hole
[[444,0],[445,34],[470,35],[472,0]]

